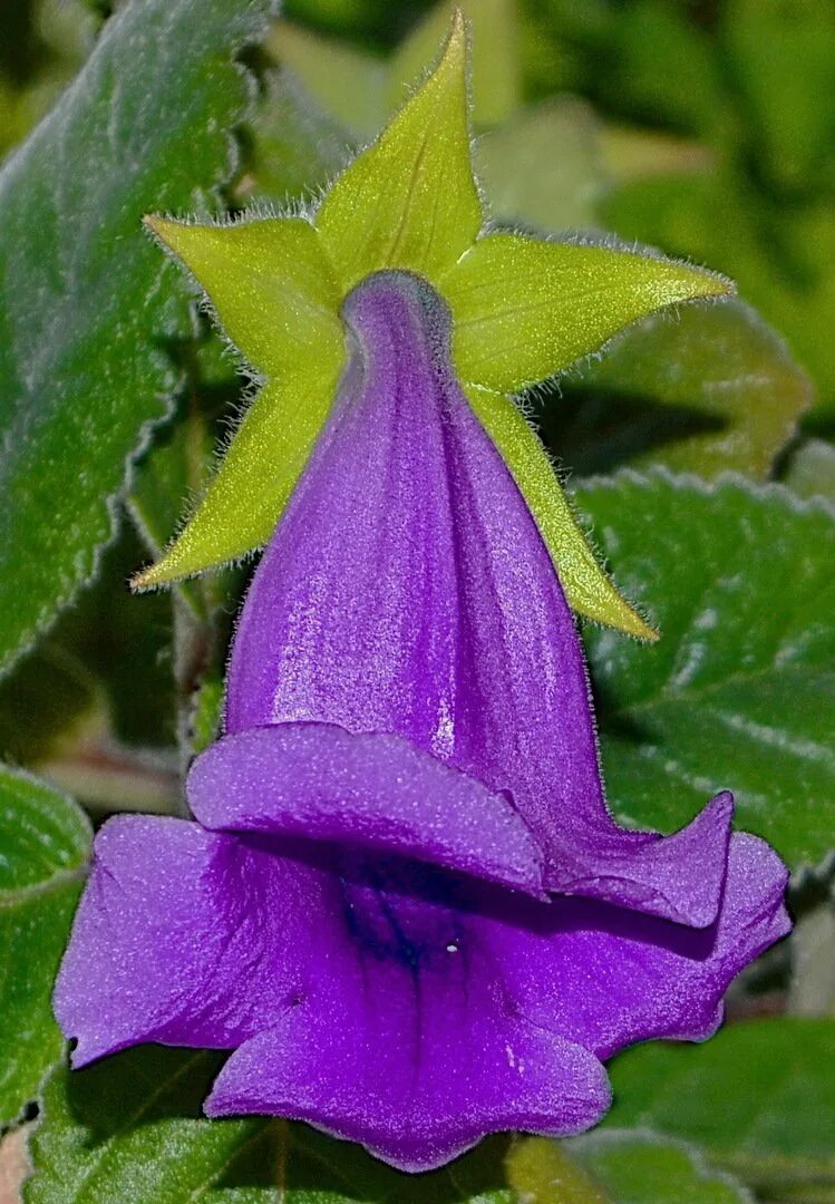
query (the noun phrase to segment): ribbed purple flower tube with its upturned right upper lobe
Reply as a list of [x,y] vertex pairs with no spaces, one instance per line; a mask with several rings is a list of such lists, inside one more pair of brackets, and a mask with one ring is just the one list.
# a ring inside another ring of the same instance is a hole
[[344,319],[333,413],[241,616],[227,731],[316,721],[401,736],[513,795],[549,889],[710,923],[728,808],[673,842],[609,816],[574,622],[455,380],[443,302],[385,272]]

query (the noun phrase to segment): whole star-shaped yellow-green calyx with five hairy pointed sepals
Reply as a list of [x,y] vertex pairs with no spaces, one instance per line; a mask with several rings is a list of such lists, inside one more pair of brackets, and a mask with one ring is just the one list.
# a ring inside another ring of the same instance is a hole
[[449,305],[461,384],[531,507],[570,604],[652,637],[597,563],[511,395],[598,350],[628,323],[730,285],[667,259],[486,228],[470,159],[460,13],[434,70],[310,216],[229,225],[147,220],[263,384],[206,496],[137,586],[174,582],[266,543],[336,395],[345,358],[342,302],[369,273],[402,268],[425,277]]

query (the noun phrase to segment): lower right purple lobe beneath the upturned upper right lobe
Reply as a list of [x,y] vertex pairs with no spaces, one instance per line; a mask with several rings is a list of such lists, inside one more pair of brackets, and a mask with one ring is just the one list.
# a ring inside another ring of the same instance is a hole
[[479,932],[520,1013],[606,1058],[651,1038],[703,1040],[739,972],[790,928],[788,872],[757,837],[732,837],[718,919],[693,929],[591,899],[520,899]]

